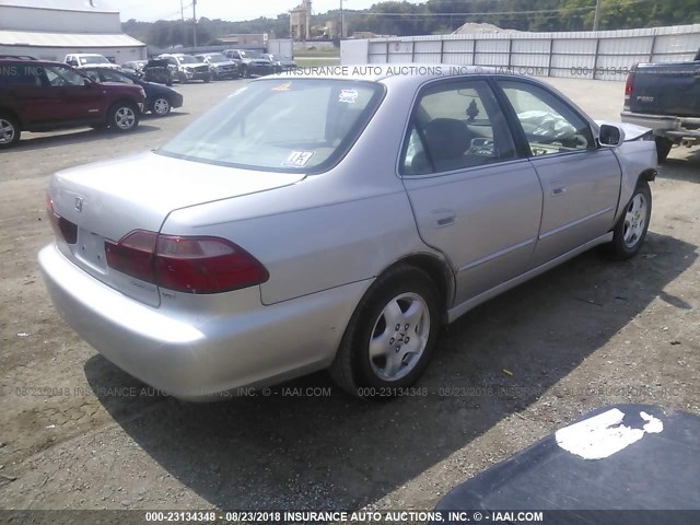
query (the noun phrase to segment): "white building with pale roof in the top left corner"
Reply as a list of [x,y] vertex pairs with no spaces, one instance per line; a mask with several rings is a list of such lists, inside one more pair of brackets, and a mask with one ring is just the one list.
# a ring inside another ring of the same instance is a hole
[[119,11],[102,0],[0,0],[0,55],[62,61],[72,52],[147,58],[145,44],[121,33]]

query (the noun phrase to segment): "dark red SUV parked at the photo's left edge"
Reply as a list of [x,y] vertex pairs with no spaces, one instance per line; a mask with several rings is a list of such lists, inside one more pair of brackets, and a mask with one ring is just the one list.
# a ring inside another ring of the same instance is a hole
[[23,130],[92,126],[130,131],[139,125],[144,102],[139,85],[97,84],[60,62],[0,59],[0,148],[16,143]]

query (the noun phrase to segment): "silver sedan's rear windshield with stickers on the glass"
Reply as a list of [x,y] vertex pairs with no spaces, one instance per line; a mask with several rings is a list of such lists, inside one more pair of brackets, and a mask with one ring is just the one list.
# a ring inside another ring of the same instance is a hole
[[277,172],[322,172],[347,152],[384,94],[349,80],[249,83],[156,153]]

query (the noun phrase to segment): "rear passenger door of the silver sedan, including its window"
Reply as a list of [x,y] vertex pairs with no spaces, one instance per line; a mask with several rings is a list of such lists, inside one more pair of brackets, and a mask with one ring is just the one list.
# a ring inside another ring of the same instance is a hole
[[441,80],[422,90],[399,172],[422,240],[456,275],[455,304],[525,270],[541,188],[486,80]]

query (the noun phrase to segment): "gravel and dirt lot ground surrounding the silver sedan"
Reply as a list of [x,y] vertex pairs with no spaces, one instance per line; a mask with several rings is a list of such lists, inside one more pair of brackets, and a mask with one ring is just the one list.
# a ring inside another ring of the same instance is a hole
[[[427,396],[277,388],[191,405],[144,389],[49,303],[45,188],[56,170],[158,147],[240,82],[178,88],[185,107],[132,135],[27,133],[0,153],[0,509],[430,509],[594,408],[700,412],[698,149],[674,150],[653,184],[640,256],[585,254],[467,314],[443,335]],[[619,119],[621,83],[552,83]],[[310,385],[330,387],[295,383]]]

